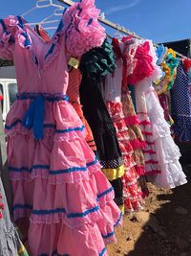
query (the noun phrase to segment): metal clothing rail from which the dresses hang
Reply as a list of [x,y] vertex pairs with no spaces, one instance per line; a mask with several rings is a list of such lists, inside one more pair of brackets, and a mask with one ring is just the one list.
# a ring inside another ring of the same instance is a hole
[[[66,5],[68,5],[68,6],[72,6],[72,5],[75,4],[72,0],[57,0],[57,1],[60,2],[60,3],[62,3],[62,4],[66,4]],[[105,25],[107,25],[107,26],[109,26],[109,27],[111,27],[111,28],[117,30],[118,32],[121,32],[121,33],[126,34],[126,35],[132,35],[132,36],[134,36],[135,38],[138,38],[138,39],[144,39],[143,37],[137,35],[136,33],[131,32],[131,31],[129,31],[128,29],[126,29],[126,28],[124,28],[124,27],[121,27],[121,26],[119,26],[118,24],[116,24],[116,23],[114,23],[114,22],[112,22],[112,21],[110,21],[110,20],[108,20],[108,19],[106,19],[106,18],[99,17],[99,21],[100,21],[101,23],[103,23],[103,24],[105,24]],[[154,45],[155,45],[155,46],[158,46],[157,43],[154,43]],[[179,56],[180,58],[187,58],[187,57],[181,55],[180,53],[178,53],[178,52],[176,52],[176,51],[175,51],[175,53],[176,53],[176,55]]]

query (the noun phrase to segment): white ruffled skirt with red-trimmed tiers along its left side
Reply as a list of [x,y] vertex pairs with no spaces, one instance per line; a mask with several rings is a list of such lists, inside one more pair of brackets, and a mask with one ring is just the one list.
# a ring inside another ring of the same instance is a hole
[[157,186],[175,188],[187,182],[179,162],[180,150],[170,134],[155,89],[151,87],[144,97],[147,113],[139,109],[138,117],[146,137],[144,155],[147,174],[153,174],[152,181]]

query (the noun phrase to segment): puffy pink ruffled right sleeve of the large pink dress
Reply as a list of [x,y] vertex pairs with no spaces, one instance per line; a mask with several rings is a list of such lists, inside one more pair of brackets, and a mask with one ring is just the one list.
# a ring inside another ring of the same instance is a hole
[[81,0],[63,15],[66,47],[69,55],[81,57],[90,49],[102,45],[105,29],[98,22],[95,0]]

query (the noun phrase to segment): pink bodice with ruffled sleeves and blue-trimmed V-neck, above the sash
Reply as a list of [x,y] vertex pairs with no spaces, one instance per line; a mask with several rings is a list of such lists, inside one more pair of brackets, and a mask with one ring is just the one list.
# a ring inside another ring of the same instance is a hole
[[0,58],[15,64],[18,91],[66,93],[68,60],[79,58],[105,38],[93,0],[65,10],[50,41],[37,35],[21,16],[0,20]]

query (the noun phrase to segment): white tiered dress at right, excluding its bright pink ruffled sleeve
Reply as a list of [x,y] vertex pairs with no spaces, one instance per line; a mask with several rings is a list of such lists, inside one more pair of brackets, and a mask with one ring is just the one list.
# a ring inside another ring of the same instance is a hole
[[[157,56],[150,41],[150,55],[153,58],[155,70],[149,78],[136,84],[136,102],[138,117],[141,121],[150,122],[151,134],[149,143],[152,146],[153,162],[157,163],[159,173],[153,175],[153,183],[162,188],[175,188],[187,182],[180,166],[180,150],[170,134],[170,127],[164,119],[163,108],[153,86],[161,71],[157,66]],[[151,152],[151,151],[150,151]]]

